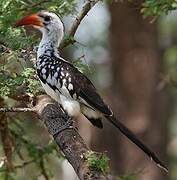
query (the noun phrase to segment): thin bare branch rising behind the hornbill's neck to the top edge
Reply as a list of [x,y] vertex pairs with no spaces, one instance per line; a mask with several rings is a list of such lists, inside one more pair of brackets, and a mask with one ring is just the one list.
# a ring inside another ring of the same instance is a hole
[[[88,2],[83,6],[81,12],[77,15],[75,20],[73,21],[69,31],[68,36],[74,37],[81,21],[84,19],[84,17],[87,15],[87,13],[92,9],[93,6],[95,6],[96,3],[98,3],[99,0],[88,0]],[[61,44],[60,48],[63,49],[64,47],[68,46],[69,44],[73,44],[76,41],[72,38],[64,39]]]

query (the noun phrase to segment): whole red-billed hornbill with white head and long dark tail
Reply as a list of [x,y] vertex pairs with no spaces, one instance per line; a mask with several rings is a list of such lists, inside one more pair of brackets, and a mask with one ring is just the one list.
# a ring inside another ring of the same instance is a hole
[[46,93],[56,100],[69,116],[77,118],[83,114],[98,128],[103,127],[101,119],[105,117],[159,167],[168,171],[155,153],[114,116],[92,82],[60,56],[58,47],[64,36],[64,26],[60,18],[52,12],[40,11],[22,18],[15,26],[23,25],[32,25],[42,32],[42,40],[37,51],[36,69]]

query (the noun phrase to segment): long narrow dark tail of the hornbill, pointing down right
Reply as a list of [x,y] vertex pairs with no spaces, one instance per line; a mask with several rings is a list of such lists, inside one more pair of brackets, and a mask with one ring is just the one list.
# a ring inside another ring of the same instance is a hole
[[128,139],[136,144],[151,160],[153,160],[158,167],[168,172],[168,168],[159,160],[159,158],[146,145],[144,145],[125,125],[123,125],[114,116],[105,116],[116,128],[118,128]]

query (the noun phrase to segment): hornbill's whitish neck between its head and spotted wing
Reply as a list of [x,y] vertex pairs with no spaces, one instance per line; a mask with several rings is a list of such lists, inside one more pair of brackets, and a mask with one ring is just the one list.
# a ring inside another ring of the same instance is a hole
[[61,40],[62,36],[59,33],[56,33],[55,31],[51,33],[43,32],[42,39],[37,51],[37,58],[43,55],[58,55],[58,47]]

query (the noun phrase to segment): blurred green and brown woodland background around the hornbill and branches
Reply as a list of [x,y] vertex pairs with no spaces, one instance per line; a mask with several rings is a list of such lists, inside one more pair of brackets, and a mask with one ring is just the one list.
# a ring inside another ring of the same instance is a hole
[[[0,0],[0,107],[24,107],[43,93],[29,61],[40,34],[12,28],[31,12],[48,9],[67,31],[86,1]],[[176,1],[100,1],[84,18],[76,43],[61,51],[95,84],[105,101],[168,165],[167,176],[104,120],[77,126],[86,144],[110,158],[124,180],[177,179]],[[43,124],[31,113],[0,113],[0,179],[77,179]],[[58,158],[56,158],[58,157]]]

